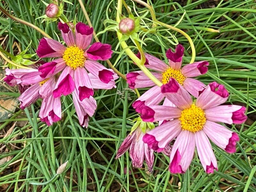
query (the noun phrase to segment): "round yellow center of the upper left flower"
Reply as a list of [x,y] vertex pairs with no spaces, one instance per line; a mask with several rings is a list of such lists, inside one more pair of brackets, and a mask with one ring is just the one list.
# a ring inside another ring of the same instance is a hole
[[63,60],[66,62],[66,65],[72,69],[78,67],[84,67],[84,50],[79,49],[76,45],[68,47],[63,53]]

